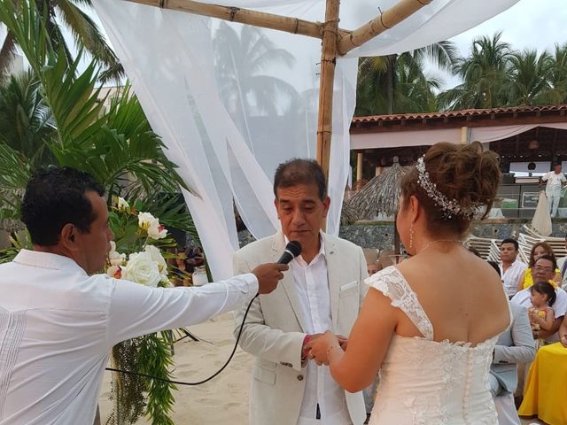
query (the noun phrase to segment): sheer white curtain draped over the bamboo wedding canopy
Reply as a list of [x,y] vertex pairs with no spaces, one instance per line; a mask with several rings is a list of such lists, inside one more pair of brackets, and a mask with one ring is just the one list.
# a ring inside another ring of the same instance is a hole
[[[309,20],[324,20],[323,0],[221,0]],[[385,11],[396,2],[382,0]],[[492,17],[517,0],[478,7],[435,0],[348,58],[339,58],[333,101],[329,188],[330,233],[338,233],[349,173],[349,134],[357,60],[438,42]],[[231,274],[238,248],[234,205],[252,235],[273,234],[276,166],[315,158],[321,41],[121,0],[93,2],[167,156],[198,196],[183,195],[215,279]],[[340,27],[359,27],[379,13],[373,0],[343,2]]]

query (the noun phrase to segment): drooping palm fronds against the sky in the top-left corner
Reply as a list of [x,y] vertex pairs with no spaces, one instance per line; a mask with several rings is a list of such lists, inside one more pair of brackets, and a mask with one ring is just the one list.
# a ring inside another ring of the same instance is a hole
[[[6,1],[16,6],[19,4],[19,0]],[[73,62],[73,56],[63,36],[62,26],[68,27],[74,36],[74,41],[103,64],[105,71],[99,75],[101,81],[117,80],[124,76],[124,70],[105,41],[105,35],[89,17],[88,12],[83,10],[83,8],[92,9],[92,0],[35,0],[35,5],[37,10],[42,12],[52,46],[56,50],[60,48],[65,51],[69,62]],[[0,48],[0,77],[4,77],[7,73],[16,45],[14,35],[8,30]]]

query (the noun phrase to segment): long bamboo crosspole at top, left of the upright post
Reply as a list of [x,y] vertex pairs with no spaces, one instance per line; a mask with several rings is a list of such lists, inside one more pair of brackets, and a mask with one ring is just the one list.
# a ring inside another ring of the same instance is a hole
[[[126,0],[131,3],[145,4],[172,11],[188,12],[211,18],[229,20],[241,24],[276,29],[291,34],[322,38],[322,23],[304,19],[289,18],[272,13],[256,12],[239,7],[204,4],[193,0]],[[350,31],[340,30],[341,35],[349,35]]]

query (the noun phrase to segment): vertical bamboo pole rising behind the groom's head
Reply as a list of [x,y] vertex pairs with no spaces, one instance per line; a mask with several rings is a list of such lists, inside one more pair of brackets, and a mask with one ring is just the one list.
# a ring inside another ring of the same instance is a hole
[[330,138],[333,119],[333,83],[338,43],[338,10],[340,0],[327,0],[322,28],[321,77],[319,85],[319,119],[317,124],[317,162],[329,180]]

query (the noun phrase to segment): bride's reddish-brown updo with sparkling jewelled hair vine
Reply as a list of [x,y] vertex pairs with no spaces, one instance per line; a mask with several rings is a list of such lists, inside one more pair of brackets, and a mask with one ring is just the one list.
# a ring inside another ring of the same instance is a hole
[[[496,197],[500,167],[493,151],[482,151],[478,142],[467,145],[437,143],[401,179],[407,208],[417,197],[427,217],[430,233],[464,235],[474,218],[484,219]],[[485,205],[484,215],[478,212]]]

